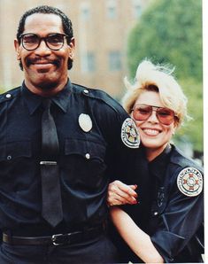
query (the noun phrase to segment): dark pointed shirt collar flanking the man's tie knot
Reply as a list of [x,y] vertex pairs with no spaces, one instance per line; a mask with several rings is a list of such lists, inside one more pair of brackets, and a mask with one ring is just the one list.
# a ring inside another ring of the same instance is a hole
[[[72,90],[72,83],[68,80],[65,85],[65,88],[58,92],[57,95],[51,97],[51,100],[58,105],[58,107],[66,113],[69,105],[69,95]],[[27,89],[25,82],[22,83],[21,93],[24,98],[25,104],[29,110],[30,115],[35,113],[36,109],[42,104],[42,98],[35,93]]]

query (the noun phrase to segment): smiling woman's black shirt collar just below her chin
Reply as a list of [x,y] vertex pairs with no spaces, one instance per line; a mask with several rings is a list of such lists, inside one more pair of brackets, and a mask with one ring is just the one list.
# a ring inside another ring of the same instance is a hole
[[163,181],[163,178],[166,174],[166,167],[169,162],[169,154],[172,150],[170,144],[166,146],[166,149],[158,155],[156,159],[153,159],[149,163],[150,174],[155,175],[160,181]]

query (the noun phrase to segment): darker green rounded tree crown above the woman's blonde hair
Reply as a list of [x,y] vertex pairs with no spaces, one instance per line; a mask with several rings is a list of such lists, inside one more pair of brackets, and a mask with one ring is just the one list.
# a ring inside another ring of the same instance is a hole
[[128,65],[153,58],[171,62],[178,78],[202,80],[202,4],[200,0],[156,0],[132,30]]

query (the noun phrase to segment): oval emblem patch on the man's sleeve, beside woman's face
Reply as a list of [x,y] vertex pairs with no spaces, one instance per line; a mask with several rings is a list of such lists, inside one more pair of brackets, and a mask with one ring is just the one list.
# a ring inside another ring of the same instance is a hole
[[135,121],[127,118],[121,127],[121,139],[127,147],[137,149],[140,144],[140,136]]

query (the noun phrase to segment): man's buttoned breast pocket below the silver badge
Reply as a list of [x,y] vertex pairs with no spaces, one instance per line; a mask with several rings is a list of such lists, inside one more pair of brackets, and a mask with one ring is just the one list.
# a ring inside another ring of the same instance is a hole
[[65,139],[65,168],[71,184],[96,187],[102,181],[105,165],[105,146],[81,139]]

